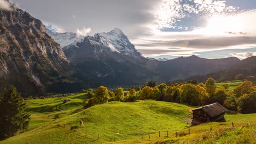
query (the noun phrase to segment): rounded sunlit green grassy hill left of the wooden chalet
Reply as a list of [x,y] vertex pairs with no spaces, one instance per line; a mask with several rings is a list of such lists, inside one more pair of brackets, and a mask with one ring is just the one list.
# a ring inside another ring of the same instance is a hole
[[[31,100],[30,103],[33,101],[36,100]],[[57,98],[53,101],[56,103],[51,105],[50,110],[54,110],[61,102]],[[38,111],[42,112],[41,108],[45,105],[46,103],[41,106],[33,104],[32,108],[37,107]],[[31,110],[31,106],[28,110]],[[35,141],[37,143],[101,143],[139,139],[143,135],[154,134],[159,130],[171,131],[188,127],[189,124],[184,122],[185,119],[191,117],[188,110],[189,106],[186,105],[153,100],[136,103],[111,102],[90,107],[73,115],[69,115],[72,113],[72,110],[69,110],[66,117],[55,121],[48,119],[48,123],[43,123],[39,128],[0,143],[34,143]],[[54,117],[59,113],[57,111],[32,113],[32,119],[42,116],[44,118]],[[83,127],[80,127],[80,119],[84,121]],[[97,140],[98,134],[99,140]]]

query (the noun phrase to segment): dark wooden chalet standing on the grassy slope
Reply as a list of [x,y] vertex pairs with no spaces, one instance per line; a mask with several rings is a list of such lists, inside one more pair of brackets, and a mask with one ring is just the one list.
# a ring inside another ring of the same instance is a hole
[[208,122],[216,122],[224,118],[225,112],[228,111],[219,103],[198,107],[193,111],[192,124],[201,124]]

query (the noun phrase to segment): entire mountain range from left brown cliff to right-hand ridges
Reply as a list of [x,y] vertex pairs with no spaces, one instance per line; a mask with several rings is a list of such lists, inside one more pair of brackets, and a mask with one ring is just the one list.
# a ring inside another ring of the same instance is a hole
[[185,80],[193,75],[204,75],[204,80],[208,73],[218,79],[245,71],[255,74],[255,57],[243,61],[194,55],[150,59],[143,57],[119,28],[94,37],[56,33],[15,7],[0,9],[0,38],[0,92],[9,85],[24,94],[36,95],[100,85],[130,87],[151,80]]

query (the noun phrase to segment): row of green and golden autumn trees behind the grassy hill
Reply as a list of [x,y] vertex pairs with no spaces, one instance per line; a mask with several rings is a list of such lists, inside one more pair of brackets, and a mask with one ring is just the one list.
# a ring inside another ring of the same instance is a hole
[[132,102],[136,100],[159,100],[173,103],[189,104],[194,106],[219,103],[232,111],[241,113],[256,112],[256,87],[251,81],[244,81],[234,90],[228,91],[229,85],[224,84],[222,88],[217,88],[216,81],[212,78],[205,83],[166,83],[156,85],[150,81],[144,87],[132,87],[125,94],[124,89],[118,87],[114,91],[107,87],[100,86],[94,92],[93,89],[82,90],[87,92],[89,99],[85,100],[84,107],[88,108],[97,104],[104,104],[109,101]]

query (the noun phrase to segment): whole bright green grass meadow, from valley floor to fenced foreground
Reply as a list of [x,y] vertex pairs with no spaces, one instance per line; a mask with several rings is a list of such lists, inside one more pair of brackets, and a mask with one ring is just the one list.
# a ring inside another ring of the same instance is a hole
[[[66,98],[71,99],[71,102],[62,104]],[[224,137],[229,137],[231,141],[237,135],[229,134],[230,131],[240,127],[245,128],[240,132],[237,130],[239,133],[249,134],[249,137],[242,137],[243,139],[251,140],[255,137],[251,134],[255,133],[256,113],[225,115],[226,123],[207,123],[190,127],[190,124],[185,122],[185,119],[191,118],[188,112],[191,106],[188,105],[154,100],[135,103],[113,101],[84,110],[81,108],[86,98],[83,93],[63,98],[27,100],[26,111],[31,113],[32,117],[30,130],[0,143],[194,143],[196,139],[198,143],[225,143]],[[84,121],[83,127],[79,124],[80,119]],[[234,128],[231,122],[235,124]],[[248,124],[252,128],[247,127]],[[208,135],[211,127],[216,133],[212,137]],[[217,135],[220,132],[223,134]]]

